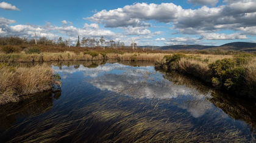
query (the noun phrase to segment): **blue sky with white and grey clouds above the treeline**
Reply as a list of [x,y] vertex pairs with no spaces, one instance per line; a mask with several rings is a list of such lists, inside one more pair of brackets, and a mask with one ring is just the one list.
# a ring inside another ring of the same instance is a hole
[[126,45],[256,42],[256,0],[0,1],[0,36]]

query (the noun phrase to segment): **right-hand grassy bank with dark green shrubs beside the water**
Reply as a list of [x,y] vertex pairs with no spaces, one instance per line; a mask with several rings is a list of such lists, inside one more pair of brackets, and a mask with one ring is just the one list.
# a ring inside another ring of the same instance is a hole
[[166,71],[176,70],[235,96],[256,99],[256,57],[241,55],[184,55],[165,56],[155,65]]

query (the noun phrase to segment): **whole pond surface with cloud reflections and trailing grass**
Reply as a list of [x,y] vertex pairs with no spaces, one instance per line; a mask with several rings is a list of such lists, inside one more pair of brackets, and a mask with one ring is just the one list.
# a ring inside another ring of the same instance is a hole
[[152,62],[51,64],[61,90],[0,106],[1,142],[255,142],[254,103]]

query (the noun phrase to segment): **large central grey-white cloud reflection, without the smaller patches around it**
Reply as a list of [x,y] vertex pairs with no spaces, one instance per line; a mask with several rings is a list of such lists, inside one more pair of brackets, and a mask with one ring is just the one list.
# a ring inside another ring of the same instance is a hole
[[[194,88],[188,88],[185,85],[173,85],[163,79],[159,73],[144,76],[145,73],[141,71],[135,74],[136,72],[131,70],[124,71],[122,75],[105,74],[98,78],[91,78],[88,82],[101,90],[115,91],[135,98],[168,99],[177,98],[179,95],[195,96],[197,99],[204,98],[204,95],[201,95]],[[160,78],[161,82],[146,82],[149,79],[157,78]]]

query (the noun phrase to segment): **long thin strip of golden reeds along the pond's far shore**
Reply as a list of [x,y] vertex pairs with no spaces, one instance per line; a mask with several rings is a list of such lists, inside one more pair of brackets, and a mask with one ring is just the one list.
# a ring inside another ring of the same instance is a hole
[[0,53],[0,62],[49,62],[49,61],[98,61],[118,59],[120,61],[156,61],[163,59],[165,53],[99,53],[99,52],[64,52],[64,53]]

